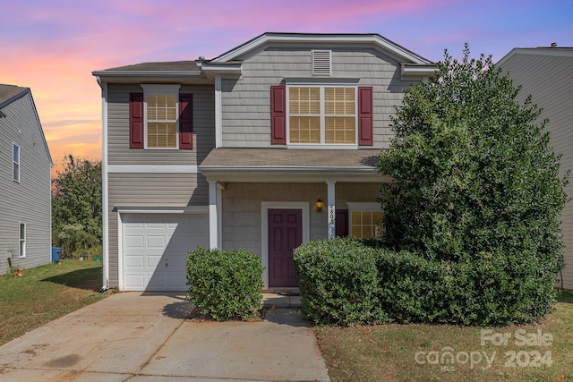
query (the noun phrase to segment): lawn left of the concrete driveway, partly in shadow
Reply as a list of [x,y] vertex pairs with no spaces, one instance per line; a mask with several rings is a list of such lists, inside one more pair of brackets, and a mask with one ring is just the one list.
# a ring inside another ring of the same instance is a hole
[[62,260],[0,276],[0,344],[103,299],[101,262]]

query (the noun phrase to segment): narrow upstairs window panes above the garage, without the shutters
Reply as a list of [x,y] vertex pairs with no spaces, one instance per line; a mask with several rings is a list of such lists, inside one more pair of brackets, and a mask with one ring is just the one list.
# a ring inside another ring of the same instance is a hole
[[147,147],[177,149],[177,94],[146,94]]

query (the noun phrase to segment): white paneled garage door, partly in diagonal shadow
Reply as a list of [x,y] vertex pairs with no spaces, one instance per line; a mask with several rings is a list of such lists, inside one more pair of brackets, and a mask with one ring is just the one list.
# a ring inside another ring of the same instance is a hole
[[187,252],[209,246],[209,216],[124,214],[122,220],[124,290],[187,290]]

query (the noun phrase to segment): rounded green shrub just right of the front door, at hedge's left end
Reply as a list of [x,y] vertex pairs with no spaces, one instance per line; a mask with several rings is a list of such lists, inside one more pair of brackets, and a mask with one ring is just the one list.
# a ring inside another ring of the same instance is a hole
[[376,300],[375,251],[336,238],[295,249],[295,269],[306,318],[319,324],[381,322]]

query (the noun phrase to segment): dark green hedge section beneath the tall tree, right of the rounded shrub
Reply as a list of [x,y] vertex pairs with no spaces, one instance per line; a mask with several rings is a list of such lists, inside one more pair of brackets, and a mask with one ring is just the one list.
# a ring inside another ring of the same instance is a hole
[[[552,310],[552,283],[531,277],[525,256],[480,261],[426,259],[380,250],[378,300],[398,322],[508,325],[535,321]],[[543,286],[543,287],[542,287]]]

